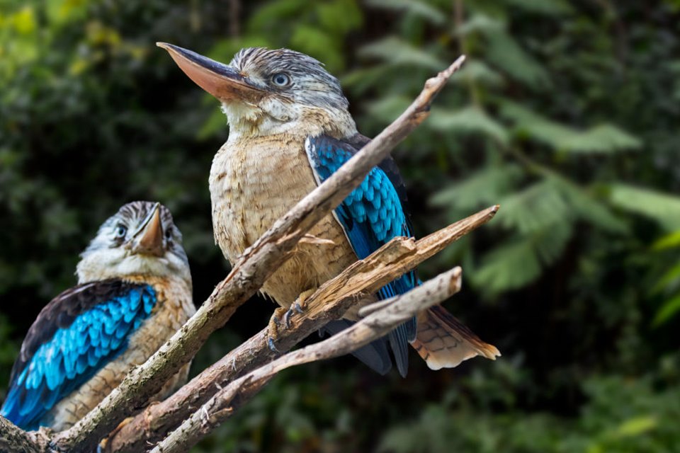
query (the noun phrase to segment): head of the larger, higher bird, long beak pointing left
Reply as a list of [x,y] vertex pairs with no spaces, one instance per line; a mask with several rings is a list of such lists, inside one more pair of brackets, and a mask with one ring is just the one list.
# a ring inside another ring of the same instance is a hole
[[249,47],[223,64],[176,45],[158,45],[191,80],[222,102],[230,134],[356,134],[338,79],[309,55]]

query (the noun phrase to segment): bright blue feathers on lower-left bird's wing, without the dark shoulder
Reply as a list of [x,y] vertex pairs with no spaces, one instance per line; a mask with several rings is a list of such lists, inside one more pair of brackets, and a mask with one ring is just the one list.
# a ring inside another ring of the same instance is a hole
[[[69,299],[59,302],[68,304]],[[89,307],[69,326],[57,328],[13,376],[0,413],[24,430],[38,429],[58,401],[127,348],[130,334],[155,304],[151,286],[135,285]]]

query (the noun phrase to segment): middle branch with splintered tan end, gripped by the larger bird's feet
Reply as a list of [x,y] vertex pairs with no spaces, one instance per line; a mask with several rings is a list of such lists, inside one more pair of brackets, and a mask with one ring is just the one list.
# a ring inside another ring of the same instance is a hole
[[[361,294],[373,294],[386,282],[416,268],[453,241],[488,222],[497,210],[498,206],[489,207],[418,241],[403,237],[392,239],[390,243],[364,260],[357,261],[312,294],[307,299],[305,313],[292,319],[291,328],[279,332],[276,347],[282,352],[288,351],[329,320],[341,317]],[[227,386],[232,380],[264,365],[274,357],[276,355],[268,348],[267,329],[264,328],[205,369],[174,395],[147,407],[113,433],[105,451],[138,452],[149,445],[148,442],[157,442],[208,401],[217,389]]]

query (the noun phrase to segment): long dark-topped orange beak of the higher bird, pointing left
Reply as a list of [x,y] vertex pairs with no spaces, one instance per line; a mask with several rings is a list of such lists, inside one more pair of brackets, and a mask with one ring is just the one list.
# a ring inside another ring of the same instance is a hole
[[189,79],[224,103],[257,103],[266,94],[266,91],[254,86],[246,76],[227,64],[167,42],[157,42],[156,45],[168,51]]

